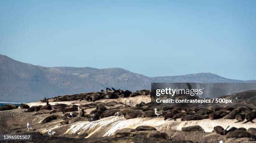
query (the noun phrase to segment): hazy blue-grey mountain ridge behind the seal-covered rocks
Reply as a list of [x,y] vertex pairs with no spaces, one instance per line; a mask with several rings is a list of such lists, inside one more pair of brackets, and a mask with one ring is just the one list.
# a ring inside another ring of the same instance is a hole
[[148,77],[121,68],[41,67],[0,54],[0,102],[31,102],[44,97],[100,91],[106,87],[136,91],[151,82],[255,82],[217,74]]

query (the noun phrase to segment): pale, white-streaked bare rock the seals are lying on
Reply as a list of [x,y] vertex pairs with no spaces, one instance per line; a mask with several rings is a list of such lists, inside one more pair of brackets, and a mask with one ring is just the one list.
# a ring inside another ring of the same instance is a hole
[[[108,101],[109,99],[101,99],[99,101]],[[111,99],[117,102],[125,102],[131,103],[130,106],[135,106],[141,101],[149,102],[150,98],[148,96],[136,96],[136,97],[128,97],[128,98],[118,98]],[[129,101],[129,102],[128,102]],[[55,104],[56,102],[50,102],[49,104]],[[65,103],[65,104],[87,104],[91,102],[87,101],[64,101],[57,103]],[[44,105],[42,102],[34,102],[30,103],[30,106],[35,105]],[[109,107],[108,107],[109,108]],[[95,108],[86,109],[87,113],[94,110]],[[123,116],[110,116],[106,118],[101,118],[97,121],[79,121],[67,125],[60,125],[59,122],[63,121],[62,119],[56,119],[49,123],[41,124],[41,121],[44,120],[49,114],[35,115],[32,116],[33,112],[23,112],[26,109],[13,109],[9,111],[0,111],[0,134],[5,133],[28,133],[26,128],[26,124],[30,123],[32,126],[32,131],[29,133],[41,133],[44,136],[47,136],[47,132],[49,130],[55,131],[55,138],[87,138],[87,140],[92,141],[102,140],[103,138],[109,141],[124,141],[124,142],[136,142],[136,141],[148,141],[144,137],[131,136],[124,138],[114,138],[113,136],[118,131],[124,129],[123,131],[127,132],[129,129],[134,129],[138,126],[153,126],[157,131],[167,133],[173,140],[168,140],[169,142],[177,141],[177,142],[185,142],[193,141],[198,143],[219,143],[223,141],[225,143],[239,143],[245,142],[249,140],[249,138],[225,138],[225,136],[218,135],[216,133],[212,133],[214,126],[223,126],[226,128],[227,126],[236,127],[236,128],[251,128],[255,126],[254,123],[234,123],[236,120],[230,119],[218,119],[218,120],[210,120],[203,119],[200,121],[180,121],[180,119],[174,120],[164,120],[163,117],[148,117],[148,118],[132,118],[126,120]],[[53,115],[63,115],[62,113],[53,113]],[[254,120],[256,121],[256,120]],[[184,126],[192,126],[199,125],[201,126],[206,133],[201,133],[197,131],[191,132],[182,132],[181,128]],[[126,129],[126,130],[125,130]],[[41,135],[40,135],[41,136]],[[138,139],[138,140],[136,140]],[[87,141],[85,140],[85,141]],[[151,139],[150,139],[151,140]],[[79,140],[78,140],[79,141]],[[162,140],[152,140],[152,141],[162,141]],[[163,140],[165,141],[165,140]],[[151,142],[148,142],[151,143]]]

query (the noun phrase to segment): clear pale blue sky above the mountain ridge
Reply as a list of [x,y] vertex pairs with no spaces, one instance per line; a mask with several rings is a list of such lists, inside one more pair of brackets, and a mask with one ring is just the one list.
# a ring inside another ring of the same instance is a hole
[[1,0],[0,54],[45,67],[256,79],[256,0]]

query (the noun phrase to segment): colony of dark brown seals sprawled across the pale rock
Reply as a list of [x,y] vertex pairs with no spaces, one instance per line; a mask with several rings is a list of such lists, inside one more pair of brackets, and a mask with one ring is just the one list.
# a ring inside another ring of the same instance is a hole
[[[104,94],[103,94],[104,93]],[[125,94],[124,94],[125,93]],[[128,94],[130,93],[130,94]],[[101,96],[98,96],[101,95]],[[103,96],[104,95],[104,96]],[[128,92],[123,90],[115,90],[115,89],[107,89],[107,91],[100,92],[91,92],[87,94],[74,94],[73,96],[58,96],[53,99],[44,98],[41,102],[44,102],[44,105],[39,106],[24,106],[24,104],[20,105],[20,108],[25,108],[24,112],[33,112],[31,116],[42,116],[47,115],[43,120],[40,121],[42,124],[47,124],[50,122],[58,122],[59,126],[64,126],[67,124],[72,124],[74,122],[79,121],[97,121],[102,118],[110,117],[110,116],[119,116],[119,118],[125,118],[129,120],[131,118],[159,118],[162,120],[174,120],[180,118],[181,121],[191,121],[191,120],[202,120],[208,119],[210,120],[218,120],[220,118],[225,119],[239,119],[239,121],[243,121],[243,123],[254,123],[253,119],[255,119],[256,106],[253,104],[228,104],[228,105],[218,105],[218,104],[167,104],[167,105],[158,105],[154,104],[154,102],[141,102],[140,104],[136,104],[131,106],[129,104],[123,102],[117,102],[113,100],[108,101],[97,101],[97,97],[103,99],[111,99],[109,97],[115,98],[126,98],[134,96],[149,96],[150,91],[141,90],[136,92]],[[97,96],[97,97],[95,97]],[[243,96],[243,94],[241,95]],[[177,97],[175,97],[177,98]],[[228,98],[231,98],[228,96]],[[58,100],[67,100],[74,101],[74,99],[80,101],[86,99],[87,101],[91,101],[91,103],[87,104],[63,104],[58,103],[49,104],[49,101],[58,101]],[[99,98],[98,98],[99,100]],[[6,107],[17,108],[12,105],[5,105]],[[4,107],[5,108],[5,107]],[[3,109],[4,109],[3,108]],[[84,110],[93,109],[86,113]],[[11,109],[10,109],[11,110]],[[31,126],[36,126],[36,124],[31,124]],[[156,127],[154,126],[140,126],[137,128],[133,128],[133,130],[129,133],[119,133],[116,135],[117,138],[123,136],[134,136],[136,134],[141,134],[142,136],[146,136],[148,138],[161,138],[161,139],[171,139],[170,136],[167,136],[167,133],[145,133],[146,131],[156,131]],[[236,136],[236,133],[229,133],[233,130],[230,128],[229,130],[223,129],[222,127],[216,127],[213,129],[215,133],[221,134],[227,137]],[[240,129],[241,130],[241,129]],[[239,130],[239,131],[240,131]],[[134,132],[135,131],[135,132]],[[200,126],[184,126],[182,131],[198,131],[205,132],[204,129]],[[243,130],[244,131],[244,130]],[[250,131],[250,132],[248,132]],[[247,137],[254,138],[252,135],[255,132],[255,129],[250,129],[247,132]],[[134,133],[133,133],[134,132]],[[137,133],[138,132],[138,133]],[[240,131],[241,132],[241,131]],[[238,133],[236,138],[240,136],[246,136],[245,132]],[[229,133],[229,134],[228,134]],[[56,133],[57,134],[57,133]],[[235,135],[233,135],[235,134]]]

